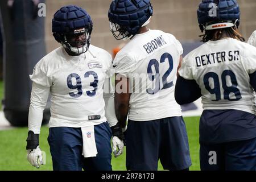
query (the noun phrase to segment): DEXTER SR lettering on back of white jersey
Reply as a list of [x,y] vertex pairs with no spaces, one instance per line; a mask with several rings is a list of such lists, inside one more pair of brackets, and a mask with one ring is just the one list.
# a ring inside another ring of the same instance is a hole
[[239,61],[239,55],[239,51],[222,51],[197,56],[195,59],[197,67],[203,67],[208,64],[217,64],[226,61]]

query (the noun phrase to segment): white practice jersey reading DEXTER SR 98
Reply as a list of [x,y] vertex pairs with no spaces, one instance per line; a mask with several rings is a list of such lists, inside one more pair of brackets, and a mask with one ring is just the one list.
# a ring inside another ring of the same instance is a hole
[[209,41],[184,57],[181,77],[201,88],[204,110],[235,109],[255,114],[249,74],[256,71],[256,48],[236,39]]

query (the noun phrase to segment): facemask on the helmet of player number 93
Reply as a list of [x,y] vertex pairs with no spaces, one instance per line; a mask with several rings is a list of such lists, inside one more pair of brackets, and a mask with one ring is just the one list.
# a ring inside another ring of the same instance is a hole
[[81,55],[89,49],[91,32],[92,30],[90,28],[74,30],[71,34],[64,35],[64,39],[61,41],[61,44],[64,48],[68,49],[68,51],[71,51],[75,55]]

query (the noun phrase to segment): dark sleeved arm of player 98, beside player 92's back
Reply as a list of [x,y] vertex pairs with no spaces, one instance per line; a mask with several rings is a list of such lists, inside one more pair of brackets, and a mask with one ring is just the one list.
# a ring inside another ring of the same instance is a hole
[[177,77],[175,86],[175,100],[179,105],[188,104],[201,97],[201,89],[195,80]]

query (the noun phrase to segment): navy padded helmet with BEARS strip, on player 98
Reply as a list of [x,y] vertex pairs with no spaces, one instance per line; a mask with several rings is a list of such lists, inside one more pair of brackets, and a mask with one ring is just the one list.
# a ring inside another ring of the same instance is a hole
[[200,29],[238,27],[240,24],[240,7],[237,0],[203,0],[197,10]]

